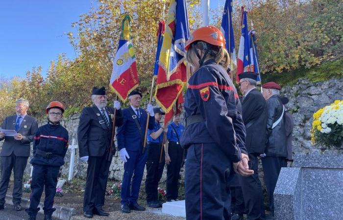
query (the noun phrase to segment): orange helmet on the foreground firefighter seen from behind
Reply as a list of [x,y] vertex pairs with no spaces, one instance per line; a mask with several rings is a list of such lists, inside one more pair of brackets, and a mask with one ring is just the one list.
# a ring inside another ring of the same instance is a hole
[[196,41],[204,41],[216,46],[225,46],[223,34],[217,27],[211,25],[196,29],[186,42],[185,50],[188,50],[191,44]]

